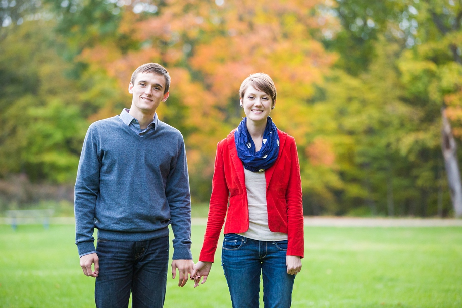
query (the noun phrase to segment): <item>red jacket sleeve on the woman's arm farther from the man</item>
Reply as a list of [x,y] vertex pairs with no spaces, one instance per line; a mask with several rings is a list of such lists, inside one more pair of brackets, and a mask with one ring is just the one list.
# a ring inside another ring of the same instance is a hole
[[303,201],[301,192],[300,163],[295,139],[290,138],[290,177],[286,191],[287,203],[287,255],[303,258]]

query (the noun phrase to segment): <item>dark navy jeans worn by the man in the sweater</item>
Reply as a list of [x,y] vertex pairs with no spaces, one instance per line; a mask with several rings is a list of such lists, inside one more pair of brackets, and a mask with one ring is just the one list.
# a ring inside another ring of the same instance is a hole
[[141,242],[98,239],[99,276],[95,283],[98,308],[162,307],[167,285],[169,237]]

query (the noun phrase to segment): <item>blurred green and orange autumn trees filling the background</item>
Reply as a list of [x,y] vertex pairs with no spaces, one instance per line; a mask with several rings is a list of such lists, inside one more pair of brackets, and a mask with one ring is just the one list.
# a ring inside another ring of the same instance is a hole
[[441,110],[460,143],[460,0],[2,0],[0,18],[3,208],[37,201],[25,185],[71,187],[88,125],[129,107],[131,73],[158,62],[195,203],[261,71],[297,141],[305,215],[453,215]]

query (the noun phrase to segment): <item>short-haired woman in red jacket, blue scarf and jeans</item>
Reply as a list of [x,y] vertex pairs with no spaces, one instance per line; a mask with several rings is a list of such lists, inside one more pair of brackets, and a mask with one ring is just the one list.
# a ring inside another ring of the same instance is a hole
[[258,307],[260,273],[265,307],[290,307],[303,258],[297,148],[269,117],[276,104],[270,76],[250,75],[239,96],[247,117],[218,143],[206,235],[191,277],[194,287],[201,277],[206,282],[226,216],[222,266],[233,307]]

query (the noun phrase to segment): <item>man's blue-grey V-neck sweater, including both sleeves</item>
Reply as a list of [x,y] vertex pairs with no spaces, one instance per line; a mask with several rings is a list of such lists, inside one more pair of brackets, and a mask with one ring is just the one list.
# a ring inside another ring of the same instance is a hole
[[139,135],[120,116],[90,125],[75,183],[79,256],[96,252],[93,232],[114,241],[144,241],[169,234],[173,259],[192,259],[191,202],[183,136],[157,121]]

